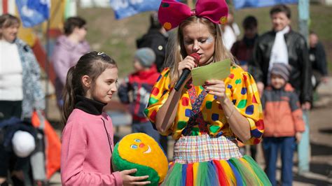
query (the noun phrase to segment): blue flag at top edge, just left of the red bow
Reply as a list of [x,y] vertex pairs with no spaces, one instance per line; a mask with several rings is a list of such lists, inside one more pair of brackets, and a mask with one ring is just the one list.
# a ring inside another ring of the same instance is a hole
[[158,10],[161,0],[110,0],[116,19],[120,20],[137,13]]

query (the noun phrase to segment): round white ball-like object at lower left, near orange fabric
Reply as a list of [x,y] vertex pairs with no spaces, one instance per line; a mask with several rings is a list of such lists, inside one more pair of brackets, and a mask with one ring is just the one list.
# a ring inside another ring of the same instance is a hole
[[34,136],[27,131],[16,131],[11,143],[15,155],[18,157],[28,157],[36,148]]

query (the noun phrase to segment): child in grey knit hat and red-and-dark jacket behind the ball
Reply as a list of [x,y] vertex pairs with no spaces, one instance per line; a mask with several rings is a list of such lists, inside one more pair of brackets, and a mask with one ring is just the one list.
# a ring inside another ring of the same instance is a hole
[[155,53],[151,48],[140,48],[134,55],[134,73],[131,73],[118,89],[120,101],[130,105],[132,132],[143,132],[159,143],[160,134],[153,129],[144,115],[148,98],[159,77],[155,67]]

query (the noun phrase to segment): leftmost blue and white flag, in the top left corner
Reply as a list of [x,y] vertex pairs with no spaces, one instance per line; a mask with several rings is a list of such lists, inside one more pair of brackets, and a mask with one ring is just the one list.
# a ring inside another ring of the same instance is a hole
[[50,17],[50,0],[16,0],[23,27],[34,27]]

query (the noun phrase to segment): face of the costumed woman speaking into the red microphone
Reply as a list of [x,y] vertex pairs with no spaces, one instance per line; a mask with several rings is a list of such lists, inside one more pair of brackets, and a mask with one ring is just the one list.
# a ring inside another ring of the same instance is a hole
[[208,64],[214,55],[215,38],[209,32],[208,27],[200,22],[188,24],[184,27],[184,48],[187,55],[198,53],[200,55],[199,66]]

